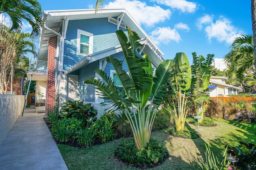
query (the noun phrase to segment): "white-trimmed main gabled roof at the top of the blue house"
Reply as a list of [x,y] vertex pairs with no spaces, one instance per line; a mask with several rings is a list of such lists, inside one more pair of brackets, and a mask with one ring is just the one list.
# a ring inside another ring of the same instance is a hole
[[[44,11],[44,22],[47,28],[50,28],[54,32],[62,32],[62,24],[68,20],[82,20],[91,18],[107,18],[118,17],[124,14],[122,22],[126,24],[128,28],[135,31],[141,39],[147,41],[147,46],[144,48],[144,53],[151,56],[150,59],[156,64],[160,64],[162,59],[162,51],[158,49],[157,45],[150,39],[146,32],[136,23],[136,21],[130,16],[125,9],[101,9],[95,14],[94,9],[82,9],[82,10],[51,10]],[[48,39],[56,36],[52,31],[42,28],[42,34],[40,37],[40,44],[38,50],[38,59],[47,60],[48,56]]]

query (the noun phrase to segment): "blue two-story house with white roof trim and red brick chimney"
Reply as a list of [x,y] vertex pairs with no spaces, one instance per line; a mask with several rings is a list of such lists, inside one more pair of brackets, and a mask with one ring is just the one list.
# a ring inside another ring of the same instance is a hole
[[127,33],[126,28],[131,28],[141,38],[138,51],[147,54],[154,66],[163,61],[162,51],[125,9],[102,9],[96,14],[94,9],[44,11],[44,22],[38,60],[30,63],[27,75],[37,80],[37,92],[46,96],[46,114],[54,108],[55,93],[60,94],[60,103],[82,100],[104,113],[100,107],[104,100],[84,80],[100,78],[94,71],[102,69],[118,85],[114,68],[106,61],[110,55],[124,58],[117,30]]

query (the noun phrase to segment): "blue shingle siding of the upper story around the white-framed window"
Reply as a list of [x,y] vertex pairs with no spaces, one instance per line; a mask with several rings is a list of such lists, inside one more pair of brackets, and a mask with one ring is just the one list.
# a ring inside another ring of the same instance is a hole
[[[67,70],[72,65],[84,58],[76,54],[77,30],[93,34],[93,53],[120,45],[116,36],[117,26],[108,22],[108,18],[94,18],[87,20],[70,20],[64,43],[63,69]],[[124,28],[120,29],[125,30]]]

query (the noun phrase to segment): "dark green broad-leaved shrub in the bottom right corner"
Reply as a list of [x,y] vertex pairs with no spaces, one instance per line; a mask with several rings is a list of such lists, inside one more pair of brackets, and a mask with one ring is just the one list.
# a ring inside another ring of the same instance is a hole
[[239,142],[239,146],[229,147],[228,154],[238,158],[238,162],[235,162],[235,166],[239,169],[256,170],[256,145],[253,143]]

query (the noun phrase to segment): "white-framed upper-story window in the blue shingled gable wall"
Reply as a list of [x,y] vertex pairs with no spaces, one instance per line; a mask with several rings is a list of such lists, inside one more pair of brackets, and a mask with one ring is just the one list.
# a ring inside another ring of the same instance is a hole
[[83,30],[77,30],[76,53],[88,55],[92,53],[93,34]]

